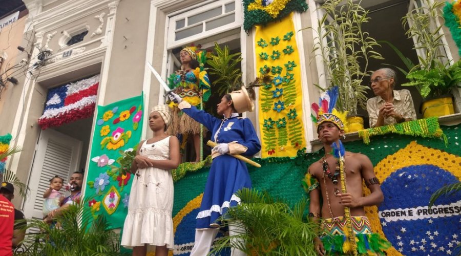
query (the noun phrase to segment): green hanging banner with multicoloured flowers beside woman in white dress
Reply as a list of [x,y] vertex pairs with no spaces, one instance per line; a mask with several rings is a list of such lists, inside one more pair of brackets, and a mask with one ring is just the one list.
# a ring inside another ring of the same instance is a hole
[[[112,169],[123,152],[133,151],[141,138],[143,96],[98,106],[91,146],[85,198],[93,217],[103,215],[111,228],[123,226],[128,212],[130,173]],[[87,209],[88,209],[87,208]]]

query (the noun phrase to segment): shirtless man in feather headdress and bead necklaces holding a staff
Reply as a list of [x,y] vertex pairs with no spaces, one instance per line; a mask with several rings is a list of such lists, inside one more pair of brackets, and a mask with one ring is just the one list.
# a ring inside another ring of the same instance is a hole
[[[334,109],[337,99],[338,87],[334,87],[319,104],[312,104],[312,119],[325,150],[325,156],[309,166],[303,180],[310,197],[309,216],[313,221],[321,218],[315,248],[319,255],[384,255],[390,243],[372,233],[364,211],[364,206],[384,200],[380,182],[367,156],[345,151],[340,138],[347,127],[342,121],[346,113]],[[362,181],[371,191],[365,197]]]

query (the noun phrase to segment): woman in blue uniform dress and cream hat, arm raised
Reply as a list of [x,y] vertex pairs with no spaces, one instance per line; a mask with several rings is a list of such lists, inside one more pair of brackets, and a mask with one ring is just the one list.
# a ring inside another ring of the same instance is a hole
[[[218,114],[224,119],[218,119],[203,110],[197,110],[187,101],[173,94],[180,102],[178,107],[194,120],[202,123],[212,131],[213,140],[218,143],[212,150],[213,163],[203,193],[200,212],[197,215],[195,245],[191,255],[206,255],[219,230],[216,220],[235,206],[240,199],[236,191],[252,186],[248,169],[242,160],[228,154],[241,154],[252,157],[261,150],[261,143],[256,135],[252,122],[239,117],[239,113],[253,111],[254,105],[244,87],[242,90],[226,94],[218,104]],[[229,233],[235,226],[229,225]],[[245,255],[242,251],[232,248],[232,255]]]

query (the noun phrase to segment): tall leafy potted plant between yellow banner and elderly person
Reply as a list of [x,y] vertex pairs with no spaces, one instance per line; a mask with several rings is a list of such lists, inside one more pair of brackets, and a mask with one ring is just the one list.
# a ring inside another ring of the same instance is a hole
[[[362,30],[362,25],[370,19],[368,11],[353,0],[327,0],[321,7],[324,15],[318,21],[317,40],[313,51],[320,52],[325,66],[327,89],[338,86],[339,98],[336,108],[347,111],[350,117],[357,115],[357,108],[366,108],[367,86],[364,78],[369,76],[368,61],[383,59],[380,53],[374,51],[380,47],[375,39]],[[330,21],[332,20],[332,22]],[[359,63],[361,62],[361,63]],[[362,64],[362,66],[361,66]],[[352,124],[348,118],[349,132],[363,129],[362,125]]]

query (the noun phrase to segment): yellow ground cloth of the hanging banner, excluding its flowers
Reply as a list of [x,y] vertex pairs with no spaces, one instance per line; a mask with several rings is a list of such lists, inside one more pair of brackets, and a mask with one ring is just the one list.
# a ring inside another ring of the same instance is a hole
[[[297,33],[295,30],[294,24],[292,22],[292,14],[288,15],[287,17],[283,18],[280,21],[270,23],[267,26],[256,26],[256,33],[255,33],[255,58],[256,58],[256,70],[259,71],[260,68],[264,67],[265,65],[268,66],[269,68],[271,67],[282,67],[283,71],[280,74],[281,77],[286,75],[286,67],[284,66],[288,61],[295,61],[296,67],[293,68],[292,71],[289,71],[290,74],[293,75],[295,82],[295,88],[296,88],[296,100],[294,104],[287,104],[285,105],[285,109],[277,112],[273,110],[274,108],[274,103],[272,103],[272,107],[269,111],[264,112],[261,110],[259,111],[259,129],[261,134],[264,134],[265,127],[264,127],[264,119],[271,118],[271,120],[279,120],[281,118],[286,119],[286,132],[283,132],[284,136],[279,136],[279,133],[282,131],[282,129],[278,128],[276,125],[272,129],[276,131],[275,137],[277,138],[277,144],[273,148],[268,148],[267,147],[267,141],[264,139],[264,136],[261,136],[261,141],[262,141],[262,148],[261,148],[261,155],[263,158],[266,157],[295,157],[298,150],[306,146],[306,140],[304,137],[304,125],[302,121],[303,117],[303,112],[302,112],[302,90],[301,90],[301,62],[299,58],[299,52],[298,52],[298,47],[296,44],[296,36],[293,35],[291,36],[290,40],[283,40],[284,35],[287,33],[292,32],[294,34]],[[271,45],[270,40],[271,38],[276,38],[279,37],[280,41],[278,45]],[[261,47],[258,46],[258,41],[260,39],[264,39],[267,42],[266,47]],[[290,54],[285,54],[283,50],[287,47],[291,46],[292,49],[294,50]],[[273,60],[270,58],[270,55],[273,54],[273,51],[279,51],[280,52],[280,58]],[[260,57],[261,53],[267,53],[269,57],[264,60]],[[258,72],[259,75],[259,72]],[[273,75],[273,74],[271,74]],[[271,91],[275,90],[276,88],[282,88],[285,89],[285,83],[280,84],[278,87],[272,87]],[[274,98],[272,97],[272,93],[270,95],[264,95],[262,93],[264,89],[261,88],[259,90],[259,104],[261,106],[261,100],[262,99],[267,99],[268,97],[270,98],[270,101],[272,102],[277,102],[278,100],[284,101],[284,95],[280,96],[279,98]],[[270,91],[269,91],[270,92]],[[295,119],[288,119],[287,114],[289,113],[290,110],[296,110],[297,117]],[[300,125],[296,127],[296,129],[290,130],[290,122],[298,120],[300,122]],[[301,134],[299,136],[299,143],[292,143],[290,138],[292,138],[294,135],[292,135],[292,132],[297,132]],[[280,143],[282,140],[287,140],[286,145],[283,145],[283,143]]]

